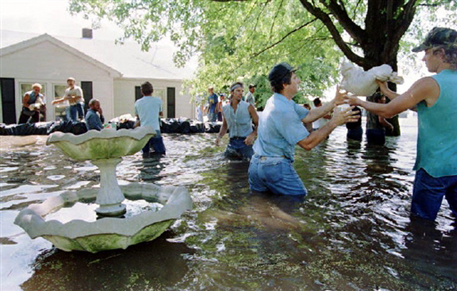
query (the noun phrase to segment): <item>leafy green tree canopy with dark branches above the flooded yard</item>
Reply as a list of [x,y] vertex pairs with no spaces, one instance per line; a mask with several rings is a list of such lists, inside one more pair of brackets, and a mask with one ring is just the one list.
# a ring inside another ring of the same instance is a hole
[[[235,81],[258,85],[269,95],[266,74],[278,62],[301,66],[302,98],[321,96],[338,82],[345,56],[369,69],[397,68],[402,37],[420,11],[455,11],[454,0],[70,0],[70,10],[116,22],[124,38],[147,50],[169,37],[179,48],[175,63],[199,57],[187,82],[193,92],[213,85],[226,90]],[[452,14],[455,19],[455,14]],[[455,20],[451,21],[456,24]],[[416,26],[417,28],[418,26]],[[336,45],[335,45],[336,44]],[[406,45],[408,46],[408,45]],[[259,94],[260,93],[260,94]]]

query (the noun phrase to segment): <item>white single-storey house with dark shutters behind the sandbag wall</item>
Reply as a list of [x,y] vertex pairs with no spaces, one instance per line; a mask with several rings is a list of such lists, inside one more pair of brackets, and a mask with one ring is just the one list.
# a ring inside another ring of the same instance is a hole
[[0,33],[0,122],[17,123],[22,96],[33,83],[43,85],[46,121],[58,119],[63,108],[50,101],[63,95],[68,77],[74,77],[83,89],[86,103],[91,98],[100,100],[108,120],[129,113],[134,116],[145,81],[152,83],[153,95],[162,98],[164,117],[195,118],[195,105],[183,88],[183,80],[192,77],[193,69],[174,65],[172,45],[154,44],[143,52],[133,42],[121,45],[93,39],[87,29],[82,38]]

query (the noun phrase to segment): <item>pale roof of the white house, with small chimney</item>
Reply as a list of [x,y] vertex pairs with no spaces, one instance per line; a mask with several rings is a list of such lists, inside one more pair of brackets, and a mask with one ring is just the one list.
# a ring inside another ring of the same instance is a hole
[[140,45],[134,42],[116,44],[114,40],[37,35],[8,30],[0,31],[0,56],[41,41],[50,41],[63,49],[78,53],[95,65],[111,70],[115,77],[122,75],[122,78],[133,79],[182,80],[191,78],[196,68],[195,62],[177,68],[173,63],[175,49],[165,42],[154,43],[148,52],[143,52]]

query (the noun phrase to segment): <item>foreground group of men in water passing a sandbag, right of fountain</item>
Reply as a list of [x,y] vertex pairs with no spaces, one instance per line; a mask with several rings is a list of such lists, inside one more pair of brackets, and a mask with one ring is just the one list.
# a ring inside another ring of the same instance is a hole
[[[225,154],[250,160],[251,191],[304,196],[307,189],[292,166],[296,145],[311,150],[344,123],[350,125],[351,136],[361,137],[359,107],[369,112],[367,138],[384,143],[384,128],[393,127],[386,118],[407,109],[415,110],[419,133],[411,213],[435,220],[446,197],[457,217],[457,31],[434,28],[413,49],[420,51],[425,52],[423,61],[429,72],[436,75],[418,80],[403,94],[391,91],[386,82],[377,80],[380,92],[367,101],[337,88],[329,103],[315,100],[313,109],[299,106],[292,100],[300,84],[296,69],[280,63],[268,75],[274,94],[257,115],[252,105],[241,100],[243,84],[234,83],[230,103],[222,107],[223,124],[216,145],[228,130],[230,139]],[[386,103],[385,97],[391,102]],[[341,104],[350,107],[333,110]],[[304,126],[321,118],[326,122],[312,130]]]

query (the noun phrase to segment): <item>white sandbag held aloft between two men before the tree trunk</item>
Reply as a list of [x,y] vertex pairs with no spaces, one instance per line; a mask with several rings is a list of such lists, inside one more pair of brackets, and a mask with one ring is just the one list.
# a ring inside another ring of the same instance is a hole
[[368,71],[355,66],[350,62],[343,62],[341,66],[343,80],[340,88],[351,92],[357,96],[371,96],[378,89],[376,79],[380,81],[389,81],[395,84],[403,84],[403,78],[397,75],[389,65],[373,67]]

